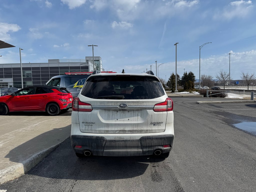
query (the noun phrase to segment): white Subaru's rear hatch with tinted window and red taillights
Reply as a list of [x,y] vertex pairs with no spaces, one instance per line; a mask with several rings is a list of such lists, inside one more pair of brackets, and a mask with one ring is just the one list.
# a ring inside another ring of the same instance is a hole
[[155,76],[95,75],[87,79],[73,108],[81,132],[155,133],[165,131],[172,100]]

